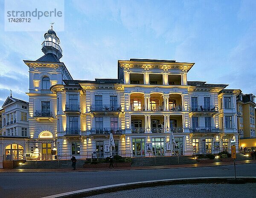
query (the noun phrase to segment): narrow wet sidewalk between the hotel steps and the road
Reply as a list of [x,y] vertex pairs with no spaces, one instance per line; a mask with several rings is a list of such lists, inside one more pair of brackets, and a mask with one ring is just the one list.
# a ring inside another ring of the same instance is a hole
[[[223,166],[233,165],[233,161],[215,162],[207,164],[175,164],[167,166],[131,166],[131,167],[116,167],[108,168],[77,168],[73,170],[71,165],[69,168],[62,169],[0,169],[1,172],[85,172],[85,171],[113,171],[113,170],[138,170],[138,169],[174,169],[174,168],[193,168],[193,167],[207,167],[207,166]],[[256,160],[236,161],[236,164],[256,164]]]

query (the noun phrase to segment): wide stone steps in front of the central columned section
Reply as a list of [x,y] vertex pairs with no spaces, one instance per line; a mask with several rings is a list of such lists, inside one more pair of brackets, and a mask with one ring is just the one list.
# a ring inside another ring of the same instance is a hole
[[165,166],[172,164],[197,164],[198,161],[192,156],[159,156],[159,157],[141,157],[132,158],[131,166]]

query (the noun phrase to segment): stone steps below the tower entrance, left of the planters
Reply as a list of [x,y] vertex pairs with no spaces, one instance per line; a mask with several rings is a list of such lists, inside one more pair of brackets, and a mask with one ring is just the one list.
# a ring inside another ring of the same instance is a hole
[[[77,160],[76,167],[84,167],[84,160]],[[58,169],[58,168],[72,168],[71,160],[47,160],[47,161],[26,161],[17,166],[15,169]]]

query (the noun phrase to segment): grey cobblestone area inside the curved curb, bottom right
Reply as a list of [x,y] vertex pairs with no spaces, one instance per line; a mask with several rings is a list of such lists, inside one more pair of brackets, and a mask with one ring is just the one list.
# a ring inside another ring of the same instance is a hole
[[93,195],[87,198],[255,198],[256,183],[179,184]]

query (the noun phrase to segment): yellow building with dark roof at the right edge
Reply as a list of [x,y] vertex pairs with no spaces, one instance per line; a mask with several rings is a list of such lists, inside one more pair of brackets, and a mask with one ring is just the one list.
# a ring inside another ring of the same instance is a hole
[[239,146],[256,146],[255,95],[240,93],[236,98]]

